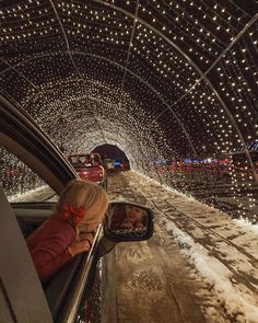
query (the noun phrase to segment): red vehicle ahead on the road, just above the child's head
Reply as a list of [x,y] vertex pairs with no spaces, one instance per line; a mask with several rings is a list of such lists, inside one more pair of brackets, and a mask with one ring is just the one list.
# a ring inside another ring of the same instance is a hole
[[107,188],[106,172],[98,153],[71,154],[68,160],[81,178],[95,182]]

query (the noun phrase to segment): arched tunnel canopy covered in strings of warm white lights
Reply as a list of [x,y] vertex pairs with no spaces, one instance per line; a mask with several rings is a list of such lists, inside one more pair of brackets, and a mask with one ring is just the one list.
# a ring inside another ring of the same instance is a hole
[[216,207],[226,187],[233,214],[256,222],[257,9],[2,1],[1,93],[68,153],[115,145],[133,170]]

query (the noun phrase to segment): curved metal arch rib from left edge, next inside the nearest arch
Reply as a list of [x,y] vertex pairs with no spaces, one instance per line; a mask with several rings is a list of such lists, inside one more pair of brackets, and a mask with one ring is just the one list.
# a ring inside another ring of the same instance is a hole
[[[33,58],[30,58],[27,60],[24,60],[22,62],[19,62],[16,66],[19,65],[22,65],[24,62],[28,62],[28,61],[32,61],[34,59],[38,59],[38,58],[43,58],[43,57],[48,57],[48,56],[54,56],[54,55],[63,55],[63,54],[67,54],[66,51],[57,51],[56,54],[45,54],[45,55],[38,55],[38,56],[34,56]],[[197,151],[194,147],[194,143],[185,128],[185,126],[183,125],[180,118],[177,116],[177,114],[174,112],[174,109],[171,108],[171,106],[168,105],[168,103],[162,97],[162,95],[151,85],[149,84],[146,81],[144,81],[141,77],[139,77],[138,74],[136,74],[133,71],[131,71],[130,69],[124,67],[122,65],[109,59],[109,58],[106,58],[106,57],[103,57],[103,56],[99,56],[99,55],[94,55],[94,54],[89,54],[89,53],[83,53],[83,51],[71,51],[71,54],[77,54],[77,55],[82,55],[82,56],[89,56],[89,57],[93,57],[93,58],[97,58],[99,60],[105,60],[105,61],[108,61],[109,64],[112,65],[115,65],[117,66],[118,68],[120,69],[125,69],[129,74],[133,76],[136,79],[138,79],[141,83],[145,84],[152,92],[155,93],[155,95],[162,101],[162,103],[166,106],[166,109],[169,109],[172,112],[172,114],[174,115],[175,119],[177,120],[177,123],[180,125],[180,128],[183,129],[183,132],[185,134],[189,145],[190,145],[190,148],[194,152],[195,155],[197,155]],[[14,69],[13,67],[10,67],[10,69]],[[2,72],[7,71],[8,69],[3,70]],[[0,72],[1,73],[1,72]],[[35,95],[38,95],[38,93],[36,93]],[[31,99],[32,100],[32,99]],[[30,101],[28,101],[30,102]],[[28,103],[26,102],[26,104]]]

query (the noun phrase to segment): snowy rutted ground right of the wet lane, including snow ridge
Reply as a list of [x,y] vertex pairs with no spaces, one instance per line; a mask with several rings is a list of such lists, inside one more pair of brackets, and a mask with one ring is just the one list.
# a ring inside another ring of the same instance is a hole
[[[199,297],[207,299],[202,309],[207,322],[257,323],[258,226],[233,220],[134,172],[122,176],[136,194],[118,189],[112,198],[131,199],[154,210],[156,223],[176,239],[180,253],[196,269],[192,275],[209,289],[199,290]],[[223,316],[216,316],[218,303]]]

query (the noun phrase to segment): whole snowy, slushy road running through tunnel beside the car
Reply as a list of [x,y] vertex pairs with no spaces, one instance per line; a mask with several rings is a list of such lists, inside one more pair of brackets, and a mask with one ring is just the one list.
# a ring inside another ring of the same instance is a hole
[[149,206],[156,223],[150,241],[115,249],[118,322],[258,322],[257,226],[132,171],[110,176],[108,194]]

